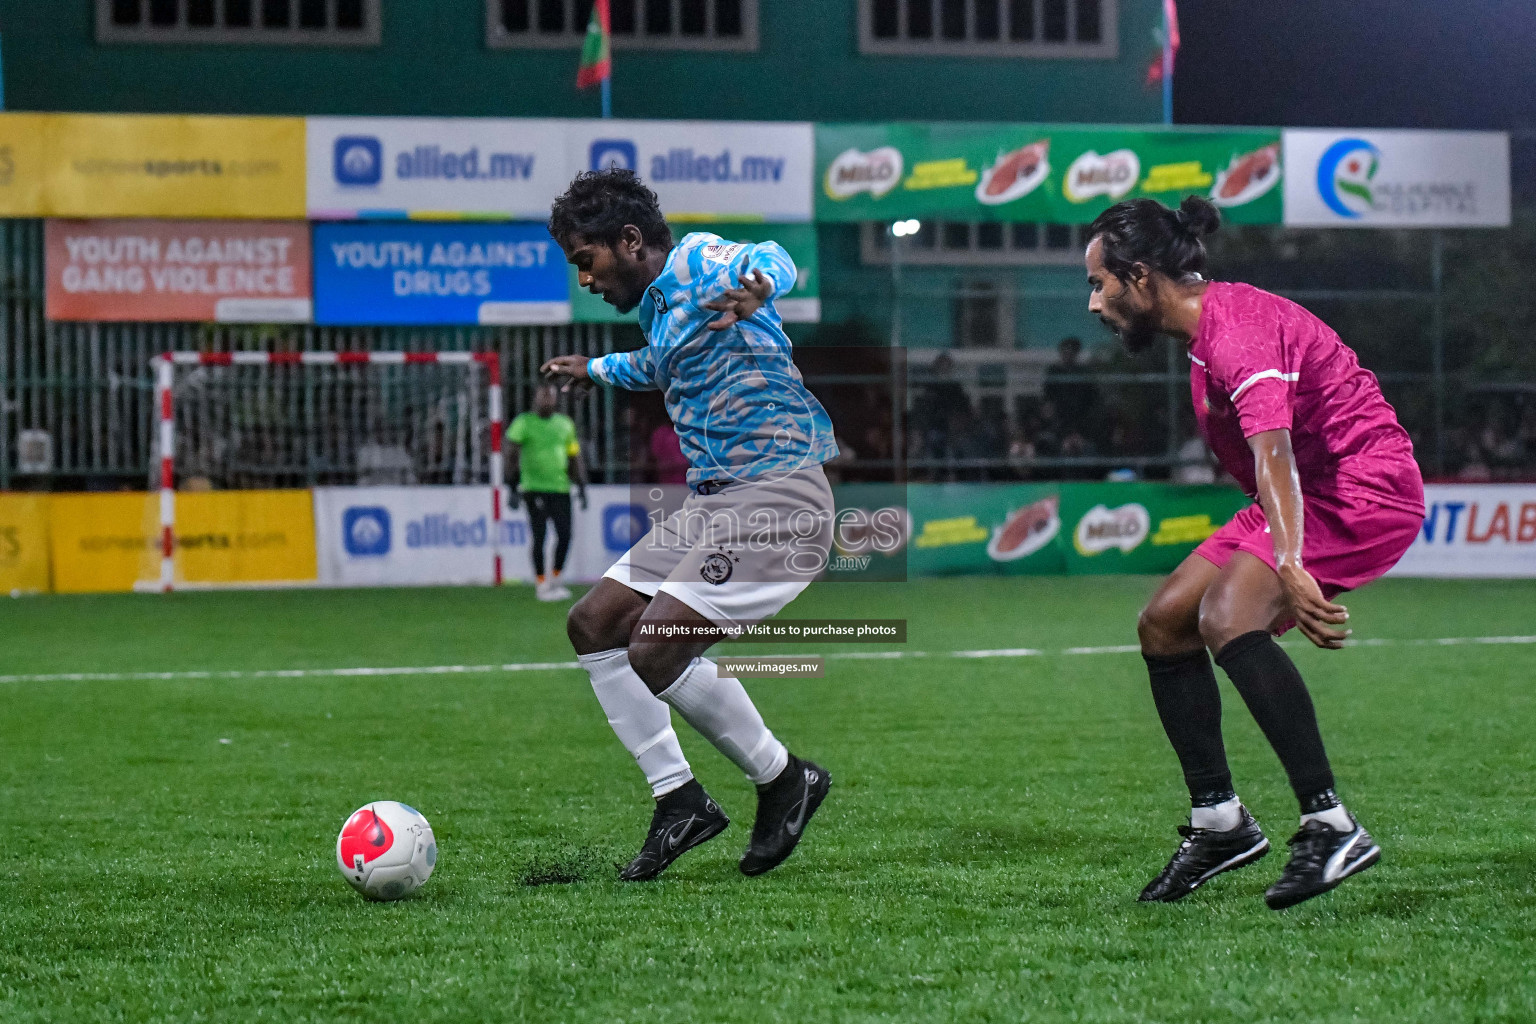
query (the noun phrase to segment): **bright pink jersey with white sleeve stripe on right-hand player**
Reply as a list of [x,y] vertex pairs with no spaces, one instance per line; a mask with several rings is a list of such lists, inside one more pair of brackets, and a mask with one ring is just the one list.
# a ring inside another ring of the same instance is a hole
[[1189,358],[1200,433],[1250,497],[1247,438],[1284,427],[1304,497],[1424,514],[1409,433],[1376,376],[1321,319],[1249,284],[1212,282]]

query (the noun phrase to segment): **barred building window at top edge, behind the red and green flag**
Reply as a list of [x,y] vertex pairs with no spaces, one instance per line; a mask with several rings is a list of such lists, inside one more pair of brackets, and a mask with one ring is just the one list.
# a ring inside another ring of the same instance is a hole
[[[578,48],[593,0],[485,0],[485,45]],[[614,49],[757,49],[757,0],[608,0]]]

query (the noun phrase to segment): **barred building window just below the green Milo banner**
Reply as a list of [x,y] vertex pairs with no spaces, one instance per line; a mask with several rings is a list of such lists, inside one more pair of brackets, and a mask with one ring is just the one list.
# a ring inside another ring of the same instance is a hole
[[1083,232],[1081,224],[928,220],[897,239],[889,224],[863,224],[860,253],[866,264],[891,263],[894,246],[900,246],[902,263],[932,267],[1081,266]]

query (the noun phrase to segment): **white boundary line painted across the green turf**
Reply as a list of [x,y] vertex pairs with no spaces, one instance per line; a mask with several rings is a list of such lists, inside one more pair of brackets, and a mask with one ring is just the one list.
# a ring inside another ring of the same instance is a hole
[[[1390,648],[1390,646],[1464,646],[1471,643],[1488,645],[1528,645],[1536,643],[1531,637],[1441,637],[1436,640],[1349,640],[1346,646]],[[1289,642],[1286,646],[1306,646],[1299,642]],[[1037,648],[998,648],[994,651],[833,651],[823,654],[826,660],[874,662],[900,660],[914,657],[1051,657],[1074,654],[1135,654],[1141,648],[1134,643],[1121,643],[1098,648],[1063,648],[1060,651],[1041,651]],[[790,657],[790,656],[770,656]],[[816,656],[794,656],[816,657]],[[273,669],[221,669],[221,671],[190,671],[190,672],[54,672],[38,676],[0,676],[0,683],[137,683],[137,682],[180,682],[180,680],[221,680],[221,679],[358,679],[378,676],[484,676],[492,672],[558,672],[574,671],[581,665],[576,662],[521,662],[511,665],[412,665],[399,668],[273,668]]]

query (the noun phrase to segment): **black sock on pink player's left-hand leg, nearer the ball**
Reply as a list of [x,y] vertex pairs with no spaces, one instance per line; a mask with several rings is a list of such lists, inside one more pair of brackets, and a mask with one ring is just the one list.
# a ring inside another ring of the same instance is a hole
[[1152,702],[1163,731],[1184,769],[1190,804],[1213,808],[1226,803],[1235,794],[1227,749],[1221,743],[1221,691],[1206,649],[1141,657],[1152,679]]

